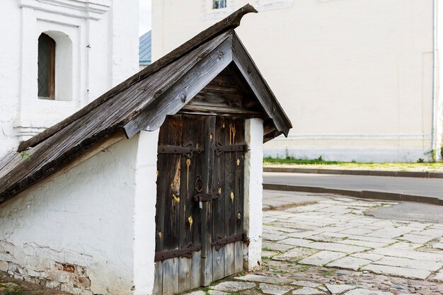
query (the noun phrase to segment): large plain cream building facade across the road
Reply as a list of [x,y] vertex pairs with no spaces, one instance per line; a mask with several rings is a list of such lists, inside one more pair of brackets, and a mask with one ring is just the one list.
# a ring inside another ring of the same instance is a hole
[[[153,0],[159,59],[243,0]],[[439,155],[433,0],[254,0],[238,35],[292,120],[266,156],[418,161]],[[432,153],[431,151],[435,152]]]

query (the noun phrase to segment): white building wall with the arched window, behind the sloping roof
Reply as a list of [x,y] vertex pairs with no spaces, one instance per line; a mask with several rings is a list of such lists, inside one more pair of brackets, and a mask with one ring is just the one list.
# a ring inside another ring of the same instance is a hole
[[4,0],[0,157],[138,71],[138,0]]

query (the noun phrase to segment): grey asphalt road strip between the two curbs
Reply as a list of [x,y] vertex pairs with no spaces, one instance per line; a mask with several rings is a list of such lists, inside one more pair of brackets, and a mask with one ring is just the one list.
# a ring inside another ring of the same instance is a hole
[[344,190],[379,190],[443,199],[443,179],[438,178],[265,172],[263,173],[263,183],[330,187]]

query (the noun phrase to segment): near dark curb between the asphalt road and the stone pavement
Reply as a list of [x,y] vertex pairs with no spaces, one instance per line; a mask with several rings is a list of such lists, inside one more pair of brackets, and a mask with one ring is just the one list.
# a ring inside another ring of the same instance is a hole
[[305,185],[282,185],[278,183],[263,183],[264,190],[282,190],[285,192],[314,192],[319,194],[338,194],[362,199],[384,199],[386,201],[408,201],[443,206],[443,199],[438,197],[407,195],[398,192],[383,192],[376,190],[343,190],[331,187],[314,187]]

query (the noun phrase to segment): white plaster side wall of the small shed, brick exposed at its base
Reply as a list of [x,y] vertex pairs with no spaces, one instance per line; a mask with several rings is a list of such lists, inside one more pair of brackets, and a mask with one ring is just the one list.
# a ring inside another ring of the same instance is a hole
[[155,180],[144,179],[155,178],[154,159],[138,144],[138,135],[118,141],[1,206],[0,261],[9,262],[8,272],[73,294],[132,294],[134,272],[154,259],[134,260],[146,258],[141,243],[154,247],[142,216],[147,209],[154,221]]

